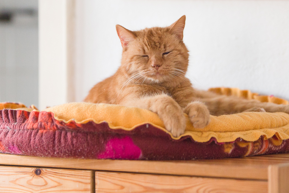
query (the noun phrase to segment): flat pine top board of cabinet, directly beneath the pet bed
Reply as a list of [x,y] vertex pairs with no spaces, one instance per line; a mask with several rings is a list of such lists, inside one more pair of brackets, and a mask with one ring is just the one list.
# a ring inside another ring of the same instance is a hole
[[289,163],[289,154],[193,161],[45,158],[0,154],[0,165],[73,168],[236,179],[268,179],[268,166]]

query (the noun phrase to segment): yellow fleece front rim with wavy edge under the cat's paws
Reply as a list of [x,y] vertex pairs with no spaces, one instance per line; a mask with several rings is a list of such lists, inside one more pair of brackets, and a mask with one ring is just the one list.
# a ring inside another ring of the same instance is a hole
[[[53,112],[59,121],[84,124],[93,121],[97,124],[107,122],[111,129],[133,130],[142,124],[151,124],[166,133],[162,120],[157,114],[135,107],[116,104],[93,104],[73,102],[54,106],[44,111]],[[277,134],[280,139],[289,138],[289,114],[287,113],[257,113],[246,112],[234,115],[210,116],[211,122],[202,129],[194,128],[186,115],[186,131],[179,137],[191,136],[197,142],[209,141],[215,137],[218,142],[234,141],[242,138],[246,141],[256,141],[264,135],[265,139]]]

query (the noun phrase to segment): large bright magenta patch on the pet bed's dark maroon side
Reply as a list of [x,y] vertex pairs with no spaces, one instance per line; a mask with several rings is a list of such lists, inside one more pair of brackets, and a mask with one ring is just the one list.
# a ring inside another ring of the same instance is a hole
[[134,144],[128,136],[124,138],[112,138],[106,146],[105,151],[98,155],[98,159],[140,159],[142,151]]

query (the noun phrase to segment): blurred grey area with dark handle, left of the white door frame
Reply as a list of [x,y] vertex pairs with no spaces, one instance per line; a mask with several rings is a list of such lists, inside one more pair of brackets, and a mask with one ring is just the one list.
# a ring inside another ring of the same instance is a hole
[[0,102],[38,106],[38,1],[0,0]]

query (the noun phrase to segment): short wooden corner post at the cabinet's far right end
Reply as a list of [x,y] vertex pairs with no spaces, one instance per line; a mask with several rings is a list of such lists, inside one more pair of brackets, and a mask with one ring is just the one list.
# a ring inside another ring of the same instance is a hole
[[289,163],[271,165],[268,167],[268,192],[289,192]]

